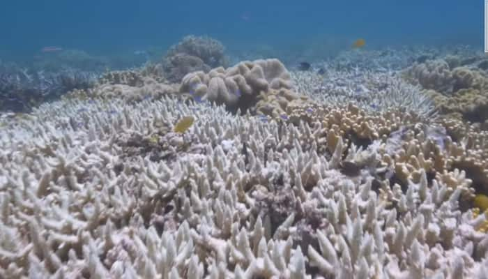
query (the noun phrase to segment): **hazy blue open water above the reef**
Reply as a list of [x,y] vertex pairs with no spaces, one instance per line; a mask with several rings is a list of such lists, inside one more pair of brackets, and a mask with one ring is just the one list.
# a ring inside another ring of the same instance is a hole
[[188,34],[224,45],[300,45],[366,38],[369,45],[482,44],[482,1],[4,1],[2,59],[42,47],[107,54],[168,47]]

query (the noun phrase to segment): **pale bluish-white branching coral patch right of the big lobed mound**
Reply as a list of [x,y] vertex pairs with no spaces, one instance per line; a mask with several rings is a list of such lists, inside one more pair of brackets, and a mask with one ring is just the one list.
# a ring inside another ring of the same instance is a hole
[[396,71],[338,71],[327,69],[323,75],[312,71],[292,71],[296,91],[310,99],[332,106],[348,103],[369,112],[404,110],[422,116],[434,114],[434,103],[418,86],[404,82]]

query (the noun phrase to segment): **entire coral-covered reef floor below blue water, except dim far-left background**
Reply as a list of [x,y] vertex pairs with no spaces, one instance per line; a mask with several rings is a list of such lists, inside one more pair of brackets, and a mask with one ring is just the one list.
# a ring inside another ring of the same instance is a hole
[[201,42],[1,114],[0,278],[488,278],[482,53]]

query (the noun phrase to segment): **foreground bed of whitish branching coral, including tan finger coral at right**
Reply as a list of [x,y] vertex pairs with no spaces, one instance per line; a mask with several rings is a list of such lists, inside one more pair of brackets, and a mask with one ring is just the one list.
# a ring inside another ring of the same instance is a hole
[[486,275],[488,213],[462,209],[470,181],[441,160],[468,152],[456,128],[308,105],[261,121],[167,97],[60,100],[2,120],[0,277]]

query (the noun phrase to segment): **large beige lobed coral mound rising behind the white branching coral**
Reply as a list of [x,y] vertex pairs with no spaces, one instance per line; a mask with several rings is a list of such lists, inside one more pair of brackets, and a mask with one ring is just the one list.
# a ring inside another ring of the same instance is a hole
[[189,73],[183,77],[180,91],[197,100],[225,104],[231,111],[250,108],[262,114],[280,116],[291,100],[299,97],[290,91],[288,70],[277,59],[243,61],[208,73]]

